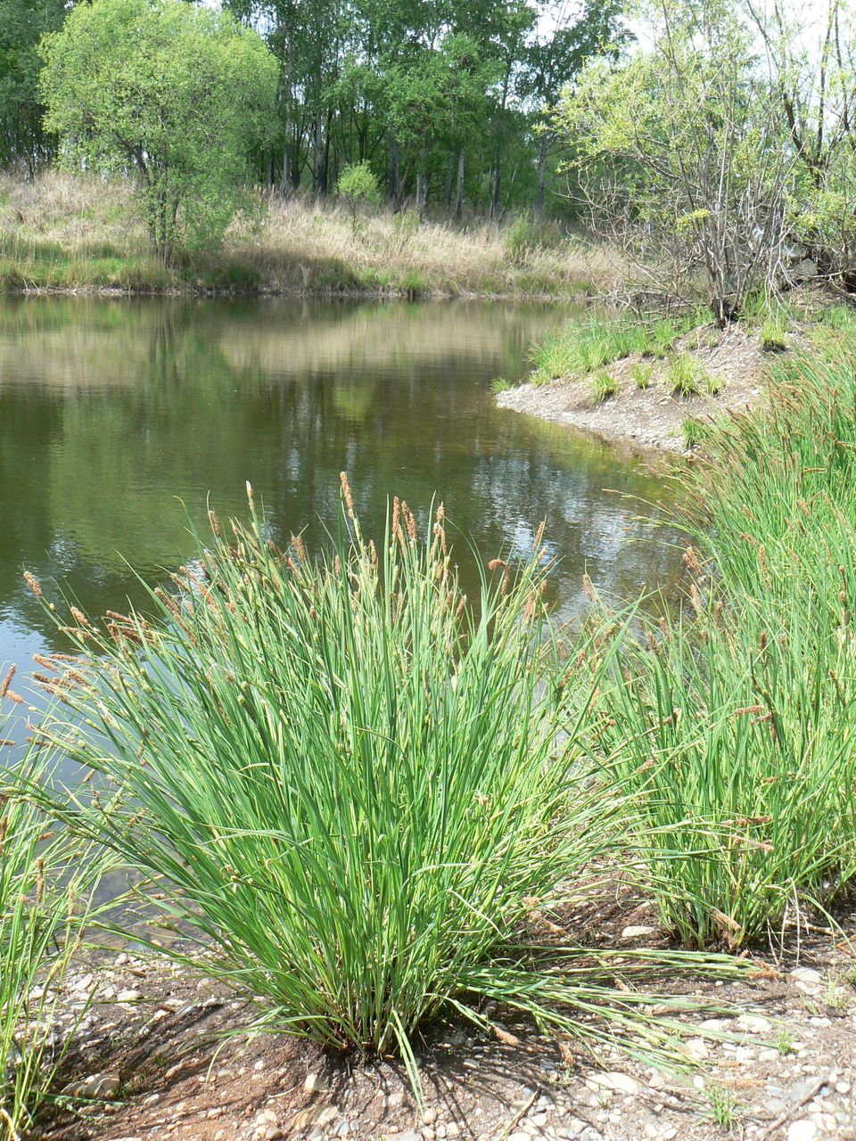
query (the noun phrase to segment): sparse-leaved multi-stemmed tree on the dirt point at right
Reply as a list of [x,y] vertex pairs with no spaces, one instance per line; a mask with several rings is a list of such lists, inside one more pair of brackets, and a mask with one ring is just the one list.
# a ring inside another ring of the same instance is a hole
[[661,0],[655,14],[652,48],[589,65],[556,122],[595,227],[659,290],[686,296],[701,276],[725,323],[748,291],[777,282],[793,148],[757,38],[727,0]]

